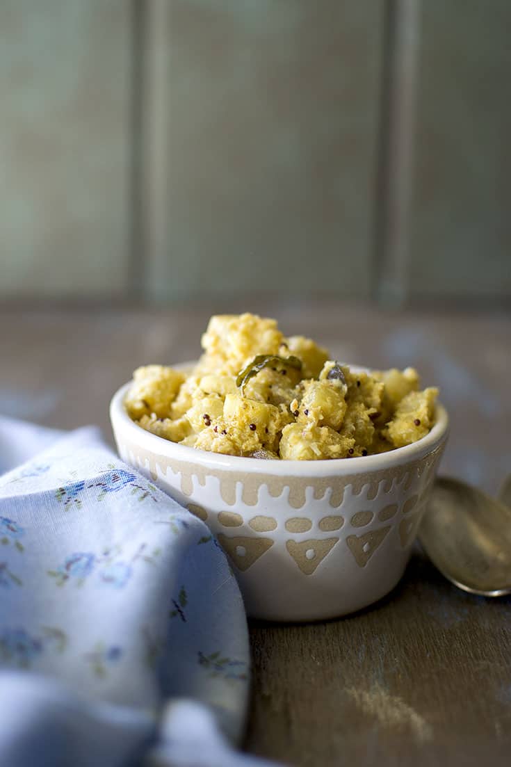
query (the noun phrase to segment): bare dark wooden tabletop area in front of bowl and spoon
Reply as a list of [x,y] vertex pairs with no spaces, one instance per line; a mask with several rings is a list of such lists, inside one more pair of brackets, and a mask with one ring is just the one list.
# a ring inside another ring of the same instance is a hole
[[511,601],[463,594],[420,555],[372,609],[251,637],[251,751],[302,767],[509,763]]

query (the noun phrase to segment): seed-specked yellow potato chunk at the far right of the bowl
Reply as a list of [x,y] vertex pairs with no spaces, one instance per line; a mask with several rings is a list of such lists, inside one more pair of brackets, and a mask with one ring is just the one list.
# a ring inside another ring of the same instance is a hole
[[417,442],[429,432],[434,423],[434,407],[438,389],[411,391],[397,405],[394,418],[387,424],[384,436],[394,445],[403,447]]

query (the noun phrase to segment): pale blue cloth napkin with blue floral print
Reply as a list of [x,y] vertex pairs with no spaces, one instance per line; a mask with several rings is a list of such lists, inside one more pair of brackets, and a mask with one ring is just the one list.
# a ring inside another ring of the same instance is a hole
[[0,765],[262,765],[229,746],[249,640],[206,525],[94,428],[0,419],[0,470]]

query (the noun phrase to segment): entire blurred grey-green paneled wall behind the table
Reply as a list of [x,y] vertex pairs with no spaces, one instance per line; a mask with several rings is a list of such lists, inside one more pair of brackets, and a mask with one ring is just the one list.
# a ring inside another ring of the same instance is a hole
[[511,296],[509,0],[0,0],[0,297]]

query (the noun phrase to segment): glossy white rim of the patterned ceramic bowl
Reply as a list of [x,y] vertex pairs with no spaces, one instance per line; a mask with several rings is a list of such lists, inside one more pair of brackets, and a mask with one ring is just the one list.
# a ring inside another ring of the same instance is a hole
[[[173,367],[185,368],[193,363],[182,363]],[[360,366],[358,367],[362,370]],[[275,476],[343,476],[371,472],[380,469],[389,469],[404,465],[410,461],[423,458],[432,453],[437,446],[447,439],[449,430],[449,416],[442,403],[437,402],[435,408],[435,423],[429,433],[417,442],[404,447],[397,447],[387,453],[377,453],[374,456],[356,456],[354,458],[331,458],[317,461],[297,461],[282,459],[280,461],[262,461],[257,458],[245,456],[229,456],[223,453],[212,453],[208,450],[199,450],[187,445],[170,442],[157,434],[146,431],[131,420],[124,407],[124,397],[127,394],[132,381],[123,384],[112,397],[110,402],[110,421],[114,430],[114,436],[120,441],[119,434],[122,431],[129,435],[131,443],[140,445],[149,453],[166,456],[184,463],[197,463],[210,469],[224,469],[241,473],[272,474]]]

